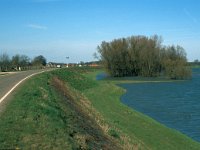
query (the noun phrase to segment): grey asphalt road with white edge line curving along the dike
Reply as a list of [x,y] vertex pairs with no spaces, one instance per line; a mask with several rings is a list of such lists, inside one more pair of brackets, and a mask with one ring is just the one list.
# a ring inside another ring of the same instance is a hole
[[[35,73],[40,73],[44,70],[29,70],[15,73],[0,73],[0,104],[7,97],[3,98],[16,84]],[[47,70],[46,70],[47,71]],[[13,89],[14,90],[14,89]]]

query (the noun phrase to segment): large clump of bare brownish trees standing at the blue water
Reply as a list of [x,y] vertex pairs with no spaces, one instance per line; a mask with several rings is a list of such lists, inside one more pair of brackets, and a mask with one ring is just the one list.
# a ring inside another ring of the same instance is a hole
[[103,41],[97,47],[100,59],[111,76],[168,76],[184,79],[191,76],[181,46],[163,46],[162,38],[132,36]]

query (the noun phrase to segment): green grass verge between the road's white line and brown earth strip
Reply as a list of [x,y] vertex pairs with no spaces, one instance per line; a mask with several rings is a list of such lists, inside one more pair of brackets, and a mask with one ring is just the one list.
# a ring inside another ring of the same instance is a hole
[[[7,106],[0,120],[0,149],[72,149],[73,141],[66,127],[71,112],[61,105],[51,88],[49,75],[27,81]],[[63,119],[65,118],[65,119]]]

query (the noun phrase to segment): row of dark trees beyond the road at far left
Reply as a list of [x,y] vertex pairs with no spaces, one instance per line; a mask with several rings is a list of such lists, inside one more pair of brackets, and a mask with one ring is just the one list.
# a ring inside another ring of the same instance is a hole
[[25,70],[33,66],[41,67],[45,65],[46,58],[42,55],[36,56],[33,60],[26,55],[17,54],[12,58],[6,53],[0,55],[0,71]]

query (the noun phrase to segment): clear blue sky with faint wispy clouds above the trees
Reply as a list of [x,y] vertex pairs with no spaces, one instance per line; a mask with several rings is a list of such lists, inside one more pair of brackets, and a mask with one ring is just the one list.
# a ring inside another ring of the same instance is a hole
[[200,60],[200,1],[0,0],[0,54],[87,62],[102,41],[155,34]]

